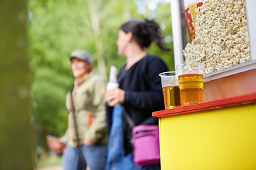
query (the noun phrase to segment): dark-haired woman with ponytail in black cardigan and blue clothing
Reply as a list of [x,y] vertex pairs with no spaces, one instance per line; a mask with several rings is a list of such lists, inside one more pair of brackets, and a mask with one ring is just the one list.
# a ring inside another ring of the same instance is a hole
[[132,149],[132,128],[124,117],[124,109],[135,125],[157,125],[158,118],[152,112],[164,110],[164,97],[159,74],[167,72],[166,64],[146,52],[151,42],[168,51],[161,40],[159,24],[155,21],[131,20],[123,23],[118,31],[118,55],[127,58],[119,70],[119,88],[106,92],[107,128],[109,147],[108,169],[160,169],[160,164],[135,166]]

